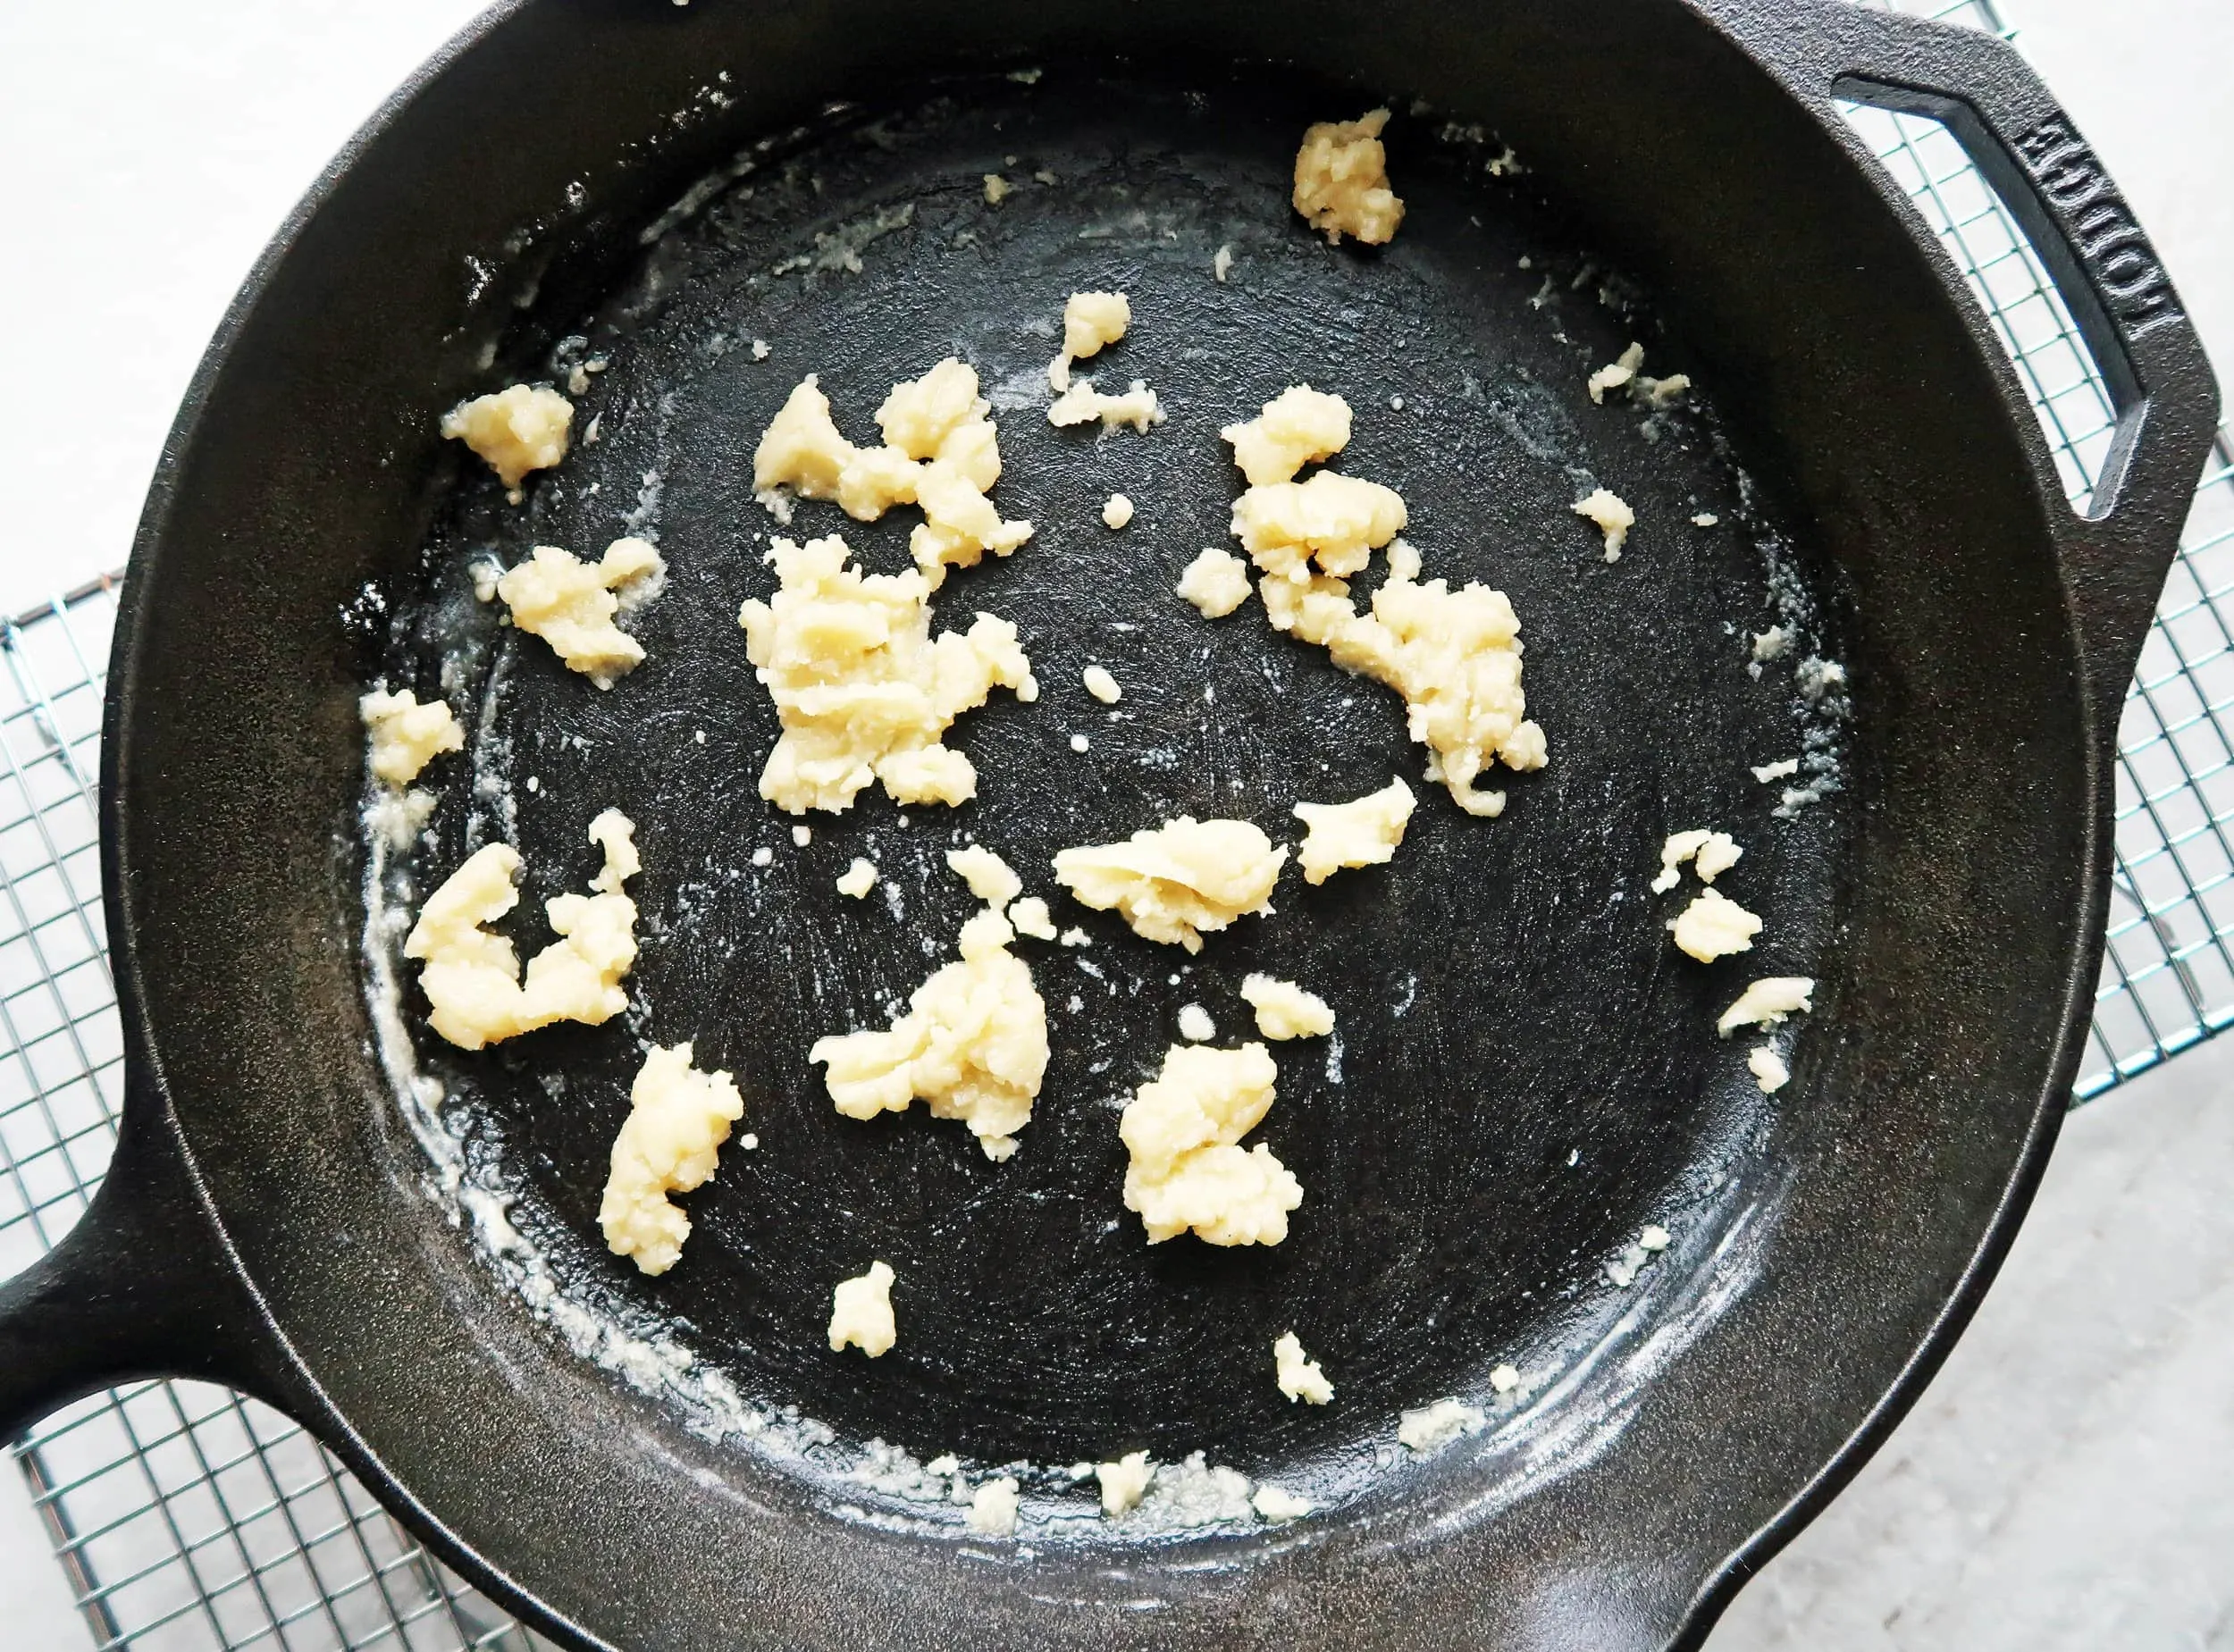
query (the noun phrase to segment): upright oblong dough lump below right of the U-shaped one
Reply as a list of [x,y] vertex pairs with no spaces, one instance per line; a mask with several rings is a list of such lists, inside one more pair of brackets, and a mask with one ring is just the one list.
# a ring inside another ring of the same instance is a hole
[[684,1255],[690,1217],[668,1199],[713,1176],[715,1150],[744,1118],[744,1096],[726,1072],[697,1072],[690,1045],[652,1049],[628,1092],[628,1118],[612,1141],[612,1170],[596,1223],[605,1248],[666,1272]]

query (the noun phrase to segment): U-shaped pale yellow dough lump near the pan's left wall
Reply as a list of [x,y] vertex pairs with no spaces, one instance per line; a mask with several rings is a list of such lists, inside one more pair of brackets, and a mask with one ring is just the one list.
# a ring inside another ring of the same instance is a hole
[[427,897],[404,938],[404,958],[424,964],[420,989],[433,1005],[433,1029],[460,1049],[514,1038],[554,1020],[596,1027],[628,1009],[621,978],[637,962],[637,902],[623,893],[639,871],[634,824],[617,808],[590,822],[590,839],[605,851],[590,895],[554,895],[543,904],[550,947],[527,962],[487,924],[509,913],[521,891],[512,886],[521,853],[487,844]]

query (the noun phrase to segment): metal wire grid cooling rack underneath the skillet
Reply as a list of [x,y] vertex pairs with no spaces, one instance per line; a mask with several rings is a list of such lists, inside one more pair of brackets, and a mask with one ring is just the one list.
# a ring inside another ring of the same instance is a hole
[[[1988,0],[1932,11],[2002,29]],[[2022,232],[1939,125],[1852,118],[1970,277],[2084,500],[2111,406]],[[0,625],[0,1277],[69,1230],[116,1139],[123,1058],[94,808],[114,614],[101,580]],[[2234,444],[2221,438],[2125,708],[2109,960],[2073,1103],[2230,1020]],[[11,1451],[103,1650],[545,1645],[429,1558],[302,1429],[226,1389],[116,1389]]]

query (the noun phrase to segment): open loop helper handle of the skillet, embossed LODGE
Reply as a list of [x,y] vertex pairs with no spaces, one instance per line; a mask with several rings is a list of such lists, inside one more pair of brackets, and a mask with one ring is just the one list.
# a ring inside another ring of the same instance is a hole
[[2095,723],[2116,739],[2218,424],[2203,339],[2165,266],[2071,116],[2006,40],[1836,0],[1709,4],[1848,141],[1836,98],[1939,121],[2055,281],[2118,420],[2084,516],[2064,505],[2028,397],[2002,377],[2040,467]]

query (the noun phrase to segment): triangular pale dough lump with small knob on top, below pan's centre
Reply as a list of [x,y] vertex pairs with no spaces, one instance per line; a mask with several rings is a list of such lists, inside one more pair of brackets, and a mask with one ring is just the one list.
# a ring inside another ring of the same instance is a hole
[[999,911],[981,911],[963,924],[961,960],[916,987],[891,1027],[818,1038],[806,1058],[829,1067],[838,1112],[876,1118],[920,1096],[934,1118],[967,1123],[987,1159],[1016,1152],[1048,1072],[1048,1007],[1008,951],[1014,938]]

